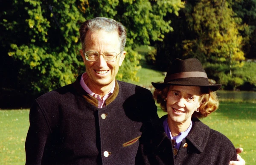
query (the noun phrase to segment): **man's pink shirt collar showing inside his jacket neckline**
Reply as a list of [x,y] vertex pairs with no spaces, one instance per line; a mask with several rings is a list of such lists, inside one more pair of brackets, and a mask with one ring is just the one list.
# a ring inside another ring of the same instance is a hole
[[99,104],[98,104],[98,108],[102,108],[102,107],[105,107],[106,104],[105,104],[105,101],[106,99],[112,95],[114,89],[115,89],[115,85],[116,85],[116,81],[114,82],[114,85],[113,87],[111,88],[111,90],[109,91],[109,93],[107,93],[105,96],[103,96],[102,98],[97,95],[96,93],[93,93],[93,91],[91,91],[89,89],[89,87],[85,84],[85,80],[87,80],[88,78],[88,75],[87,75],[87,72],[85,72],[82,76],[81,76],[81,80],[80,80],[80,85],[81,87],[85,90],[85,92],[89,93],[90,96],[93,96],[95,97],[98,101],[99,101]]

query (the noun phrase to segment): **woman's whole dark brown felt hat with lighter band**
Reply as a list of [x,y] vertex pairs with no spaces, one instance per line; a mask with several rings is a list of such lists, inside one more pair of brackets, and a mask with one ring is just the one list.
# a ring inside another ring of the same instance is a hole
[[221,88],[221,84],[209,84],[207,74],[201,62],[196,58],[175,59],[169,67],[163,83],[152,82],[152,85],[156,89],[164,88],[166,85],[209,87],[212,91]]

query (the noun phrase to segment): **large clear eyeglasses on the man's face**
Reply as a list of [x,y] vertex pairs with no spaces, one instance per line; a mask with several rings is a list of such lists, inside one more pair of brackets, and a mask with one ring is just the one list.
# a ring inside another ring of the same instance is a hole
[[[121,52],[120,52],[121,53]],[[102,56],[104,58],[105,61],[107,62],[113,62],[116,61],[117,56],[120,53],[115,53],[115,52],[102,52]],[[91,52],[91,51],[87,51],[84,53],[85,59],[87,61],[97,61],[99,58],[99,52]]]

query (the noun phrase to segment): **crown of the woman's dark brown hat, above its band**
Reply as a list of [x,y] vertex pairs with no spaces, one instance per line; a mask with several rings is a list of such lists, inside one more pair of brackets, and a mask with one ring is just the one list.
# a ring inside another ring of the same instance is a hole
[[201,62],[196,58],[186,60],[175,59],[169,67],[166,76],[180,72],[205,72]]

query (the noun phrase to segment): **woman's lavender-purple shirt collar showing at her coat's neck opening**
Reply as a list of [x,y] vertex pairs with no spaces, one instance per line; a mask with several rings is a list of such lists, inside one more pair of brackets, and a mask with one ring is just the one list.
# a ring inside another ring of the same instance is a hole
[[169,139],[173,139],[176,142],[176,145],[174,148],[176,148],[177,150],[180,148],[180,144],[182,142],[183,139],[186,138],[186,136],[189,134],[189,131],[192,128],[192,121],[189,125],[189,128],[185,131],[185,132],[180,132],[177,136],[172,137],[172,133],[170,131],[168,122],[167,122],[167,118],[163,121],[163,129],[166,133],[166,135],[169,137]]

